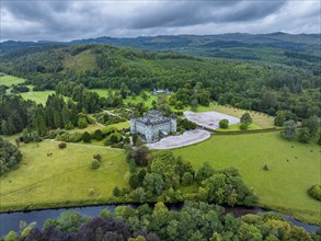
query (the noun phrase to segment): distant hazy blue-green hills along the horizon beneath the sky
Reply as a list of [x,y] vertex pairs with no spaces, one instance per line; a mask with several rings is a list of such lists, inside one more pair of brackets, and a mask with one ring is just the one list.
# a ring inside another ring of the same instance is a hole
[[4,42],[2,54],[44,48],[46,46],[70,46],[79,44],[103,44],[135,47],[145,50],[174,51],[193,56],[222,59],[242,59],[295,66],[320,73],[320,34],[219,34],[219,35],[163,35],[133,38],[98,37],[72,42]]

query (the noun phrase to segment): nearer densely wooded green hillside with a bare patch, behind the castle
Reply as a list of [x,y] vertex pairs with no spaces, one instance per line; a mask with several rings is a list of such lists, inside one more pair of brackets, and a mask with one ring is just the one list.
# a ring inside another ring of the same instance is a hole
[[55,90],[61,81],[89,89],[123,85],[136,95],[142,90],[168,88],[180,92],[177,97],[187,105],[186,90],[198,83],[206,89],[205,99],[219,104],[270,115],[290,110],[299,118],[321,115],[321,79],[311,69],[110,45],[35,48],[2,59],[0,71],[26,79],[26,84],[35,85],[34,91]]

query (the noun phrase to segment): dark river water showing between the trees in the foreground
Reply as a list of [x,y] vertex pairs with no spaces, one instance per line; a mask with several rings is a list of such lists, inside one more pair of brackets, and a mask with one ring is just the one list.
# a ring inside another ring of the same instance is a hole
[[[133,208],[138,207],[137,204],[129,204]],[[59,208],[59,209],[43,209],[33,211],[16,211],[9,214],[0,214],[0,238],[5,236],[9,231],[20,231],[20,221],[26,223],[36,222],[36,227],[43,228],[45,220],[56,219],[65,210],[79,211],[82,216],[96,217],[103,209],[108,209],[112,214],[117,206],[123,205],[101,205],[101,206],[87,206],[87,207],[72,207],[72,208]],[[171,210],[180,210],[183,204],[169,205],[168,208]],[[226,207],[228,213],[232,213],[236,217],[240,217],[247,214],[256,214],[260,211],[266,211],[262,208],[248,208],[248,207]],[[305,222],[297,221],[290,216],[284,215],[284,217],[298,227],[305,228],[308,232],[316,232],[318,226],[308,225]]]

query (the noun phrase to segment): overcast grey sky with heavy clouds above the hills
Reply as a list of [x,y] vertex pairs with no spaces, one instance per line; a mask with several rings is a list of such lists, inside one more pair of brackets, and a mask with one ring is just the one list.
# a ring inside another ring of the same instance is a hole
[[0,0],[1,41],[320,33],[320,0]]

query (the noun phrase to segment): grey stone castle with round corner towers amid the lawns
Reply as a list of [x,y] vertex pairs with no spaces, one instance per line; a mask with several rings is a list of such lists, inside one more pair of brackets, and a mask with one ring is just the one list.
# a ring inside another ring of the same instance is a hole
[[148,144],[159,140],[160,135],[176,133],[176,116],[173,113],[171,118],[164,117],[159,111],[152,110],[142,117],[136,118],[135,113],[130,116],[130,131],[140,134]]

